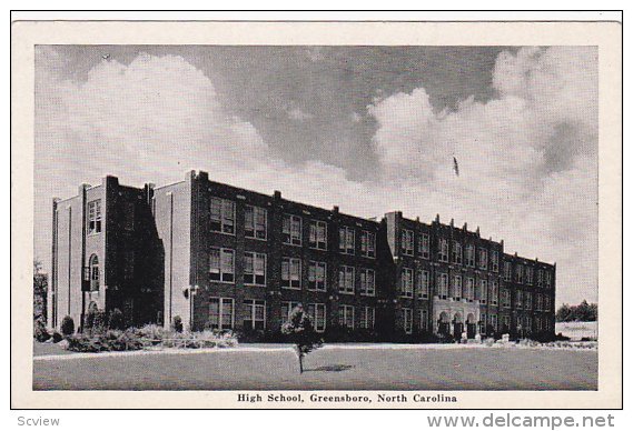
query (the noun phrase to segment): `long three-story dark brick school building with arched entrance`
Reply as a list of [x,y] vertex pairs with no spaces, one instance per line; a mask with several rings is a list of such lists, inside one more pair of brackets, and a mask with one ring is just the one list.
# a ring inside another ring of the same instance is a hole
[[[555,265],[478,228],[344,214],[210,181],[107,177],[53,200],[49,324],[90,308],[128,324],[278,333],[303,304],[326,338],[553,333]],[[507,277],[506,277],[507,275]]]

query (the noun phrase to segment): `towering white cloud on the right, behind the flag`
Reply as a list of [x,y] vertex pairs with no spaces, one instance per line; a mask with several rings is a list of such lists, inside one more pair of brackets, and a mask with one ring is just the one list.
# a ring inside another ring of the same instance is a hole
[[383,173],[411,181],[417,211],[474,221],[511,252],[561,263],[563,300],[596,300],[596,73],[592,47],[525,48],[498,56],[487,102],[434,112],[424,88],[377,100]]

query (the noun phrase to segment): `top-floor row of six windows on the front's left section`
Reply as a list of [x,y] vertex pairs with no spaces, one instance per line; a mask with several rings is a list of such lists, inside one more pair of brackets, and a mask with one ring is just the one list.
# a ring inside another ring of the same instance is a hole
[[[281,222],[281,239],[285,244],[303,245],[303,218],[294,214],[284,214]],[[244,232],[247,238],[267,239],[268,211],[265,208],[246,206],[244,210]],[[235,202],[211,198],[210,228],[212,231],[235,233]],[[346,254],[356,252],[356,231],[354,228],[342,227],[338,230],[338,250]],[[308,245],[316,250],[328,250],[327,223],[320,220],[309,220]],[[376,234],[369,231],[360,232],[360,254],[376,257]]]

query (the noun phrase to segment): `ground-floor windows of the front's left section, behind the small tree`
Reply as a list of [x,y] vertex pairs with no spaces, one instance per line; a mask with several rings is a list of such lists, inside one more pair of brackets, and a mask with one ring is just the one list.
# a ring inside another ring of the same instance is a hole
[[[296,301],[281,303],[281,319],[288,320],[293,310],[299,305]],[[358,309],[358,319],[356,319]],[[244,329],[266,329],[266,301],[244,300]],[[327,324],[327,310],[324,303],[308,303],[306,309],[313,320],[317,332],[323,332]],[[374,329],[376,322],[376,309],[374,307],[338,305],[338,324],[344,328]],[[233,298],[210,298],[208,327],[211,329],[235,328],[235,300]]]

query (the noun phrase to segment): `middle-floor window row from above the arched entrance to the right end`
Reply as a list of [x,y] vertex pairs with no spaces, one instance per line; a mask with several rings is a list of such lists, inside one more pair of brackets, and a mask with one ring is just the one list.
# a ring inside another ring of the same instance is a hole
[[[447,273],[439,273],[436,278],[436,293],[439,299],[453,298],[456,301],[462,299],[473,302],[475,300],[485,304],[488,302],[492,305],[498,304],[500,288],[496,280],[481,279],[475,283],[472,277],[466,278],[466,283],[463,285],[462,275],[454,275],[453,282],[449,283]],[[417,271],[417,298],[428,299],[431,295],[431,272],[427,270]],[[403,268],[400,273],[400,289],[399,294],[403,298],[414,298],[414,270],[411,268]],[[511,294],[508,289],[501,290],[501,302],[505,308],[511,308]],[[551,307],[551,298],[541,293],[536,294],[536,310],[548,311]],[[515,308],[532,310],[532,292],[516,291]]]

